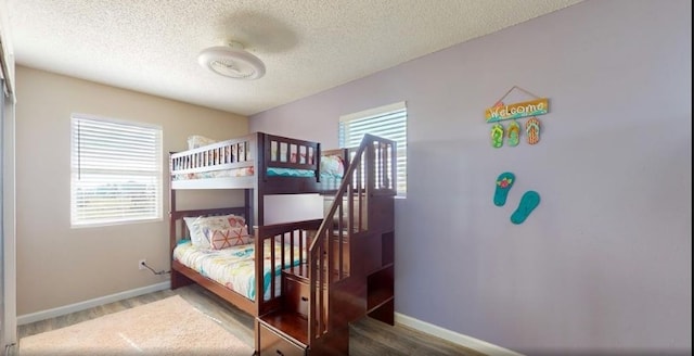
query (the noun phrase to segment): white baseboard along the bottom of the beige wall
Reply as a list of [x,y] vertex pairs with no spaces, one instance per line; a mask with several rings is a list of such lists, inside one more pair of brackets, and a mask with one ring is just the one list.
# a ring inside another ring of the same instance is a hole
[[93,300],[89,300],[89,301],[85,301],[85,302],[79,302],[79,303],[75,303],[75,304],[69,304],[69,305],[61,306],[61,307],[57,307],[57,308],[52,308],[52,309],[31,313],[31,314],[26,314],[26,315],[22,315],[22,316],[17,317],[17,325],[22,326],[22,325],[31,323],[31,322],[35,322],[35,321],[55,318],[55,317],[60,317],[62,315],[67,315],[67,314],[70,314],[70,313],[89,309],[89,308],[92,308],[92,307],[95,307],[95,306],[100,306],[100,305],[104,305],[104,304],[108,304],[108,303],[113,303],[113,302],[127,300],[129,297],[133,297],[133,296],[139,296],[139,295],[142,295],[142,294],[147,294],[147,293],[153,293],[153,292],[167,290],[169,288],[171,288],[171,282],[166,281],[166,282],[156,283],[156,284],[152,284],[152,285],[147,285],[147,287],[137,288],[137,289],[133,289],[133,290],[129,290],[129,291],[125,291],[125,292],[120,292],[120,293],[116,293],[116,294],[100,296],[98,298],[93,298]]

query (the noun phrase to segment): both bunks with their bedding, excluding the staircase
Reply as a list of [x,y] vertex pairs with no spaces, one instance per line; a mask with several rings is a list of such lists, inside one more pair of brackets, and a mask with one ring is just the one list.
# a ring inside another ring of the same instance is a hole
[[[254,239],[265,224],[264,196],[334,191],[346,162],[347,150],[321,151],[318,142],[265,132],[170,153],[171,288],[195,282],[254,316],[277,307],[278,271],[306,262],[309,231],[320,220]],[[179,211],[177,191],[196,189],[242,189],[245,204]],[[215,238],[231,246],[211,249]]]

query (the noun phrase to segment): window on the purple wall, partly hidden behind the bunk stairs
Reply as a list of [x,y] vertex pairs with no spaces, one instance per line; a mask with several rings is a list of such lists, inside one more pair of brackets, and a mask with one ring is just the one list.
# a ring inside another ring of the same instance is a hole
[[339,118],[339,147],[352,148],[361,143],[364,134],[397,142],[398,195],[407,193],[408,109],[404,102],[385,105]]

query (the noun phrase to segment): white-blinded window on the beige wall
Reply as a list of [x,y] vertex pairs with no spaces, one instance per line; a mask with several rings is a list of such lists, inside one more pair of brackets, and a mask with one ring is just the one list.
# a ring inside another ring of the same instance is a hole
[[162,218],[162,129],[73,115],[73,226]]

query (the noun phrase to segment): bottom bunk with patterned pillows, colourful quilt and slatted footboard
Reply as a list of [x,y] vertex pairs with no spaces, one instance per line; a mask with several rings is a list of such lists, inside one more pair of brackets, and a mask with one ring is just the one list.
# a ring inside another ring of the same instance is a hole
[[321,219],[265,226],[249,236],[244,212],[171,212],[171,289],[197,283],[252,316],[280,306],[282,270],[306,263],[309,231]]

